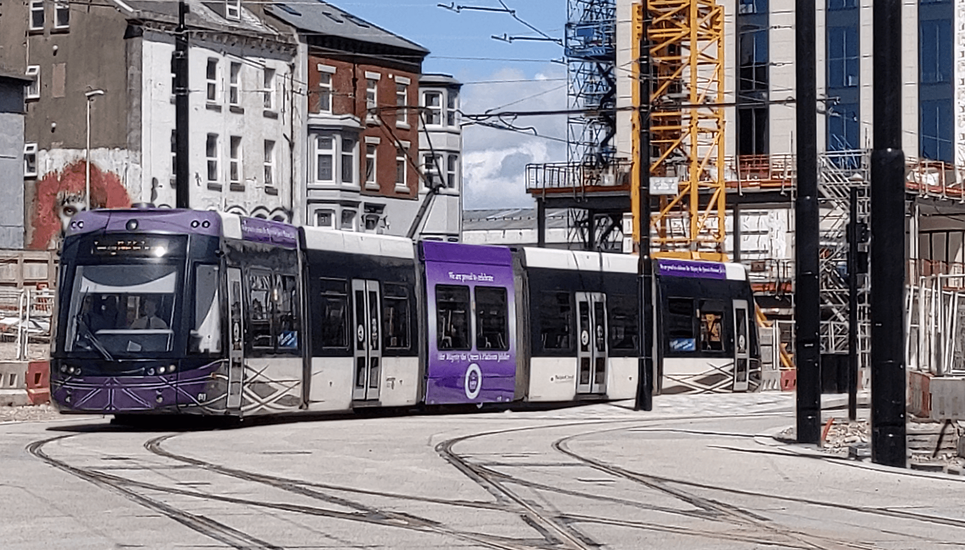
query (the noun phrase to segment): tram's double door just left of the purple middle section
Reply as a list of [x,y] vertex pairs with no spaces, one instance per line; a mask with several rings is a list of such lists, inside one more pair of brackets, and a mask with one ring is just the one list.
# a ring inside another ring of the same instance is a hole
[[355,305],[355,386],[352,399],[378,399],[382,319],[378,281],[352,279]]

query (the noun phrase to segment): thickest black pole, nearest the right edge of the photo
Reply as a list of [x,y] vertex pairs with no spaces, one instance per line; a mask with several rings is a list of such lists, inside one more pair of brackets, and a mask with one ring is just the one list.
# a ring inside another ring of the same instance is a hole
[[[871,460],[904,468],[904,151],[901,0],[874,0],[871,152]],[[897,252],[896,252],[897,251]]]

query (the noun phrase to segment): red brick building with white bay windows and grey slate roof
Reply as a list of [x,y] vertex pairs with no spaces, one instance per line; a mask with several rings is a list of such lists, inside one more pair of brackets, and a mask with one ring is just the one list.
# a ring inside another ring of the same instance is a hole
[[[304,52],[303,223],[406,234],[427,197],[418,105],[428,50],[330,4],[265,11],[295,29]],[[457,218],[436,213],[445,207],[433,202],[420,235],[457,238]]]

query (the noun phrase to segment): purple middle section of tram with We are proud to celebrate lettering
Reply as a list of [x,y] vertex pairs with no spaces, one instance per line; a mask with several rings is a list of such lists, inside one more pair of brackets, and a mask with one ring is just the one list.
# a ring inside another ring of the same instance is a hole
[[428,313],[426,402],[511,401],[515,292],[509,248],[424,242]]

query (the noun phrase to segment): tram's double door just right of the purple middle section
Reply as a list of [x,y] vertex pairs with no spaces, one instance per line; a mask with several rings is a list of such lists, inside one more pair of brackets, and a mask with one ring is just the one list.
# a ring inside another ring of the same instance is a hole
[[576,313],[579,323],[578,394],[606,393],[606,294],[576,292]]

